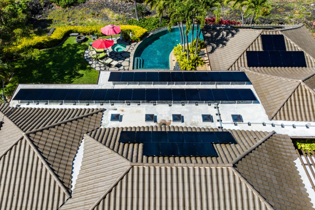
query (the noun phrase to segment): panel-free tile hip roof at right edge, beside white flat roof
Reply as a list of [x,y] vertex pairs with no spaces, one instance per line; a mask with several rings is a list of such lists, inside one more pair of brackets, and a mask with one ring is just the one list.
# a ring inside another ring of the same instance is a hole
[[[295,70],[301,70],[298,71],[301,75],[292,74],[292,79],[279,77],[277,74],[293,71],[293,68],[273,68],[275,71],[272,73],[269,73],[271,68],[240,69],[245,71],[252,82],[269,120],[315,121],[315,91],[312,89],[314,68],[296,68]],[[305,77],[307,73],[310,74]],[[289,73],[283,75],[289,77]],[[309,79],[302,82],[308,77]]]

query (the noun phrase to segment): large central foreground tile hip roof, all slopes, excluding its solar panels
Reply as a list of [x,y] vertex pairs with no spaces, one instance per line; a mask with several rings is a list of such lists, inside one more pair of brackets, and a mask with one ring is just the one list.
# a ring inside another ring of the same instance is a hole
[[[155,130],[162,130],[163,127],[159,126]],[[132,129],[140,128],[129,128]],[[151,129],[153,127],[141,127],[141,130]],[[165,130],[168,129],[201,130],[167,126]],[[180,163],[171,157],[152,158],[154,162],[131,162],[130,160],[136,160],[137,155],[133,152],[136,144],[120,144],[123,145],[120,147],[111,140],[118,141],[118,132],[121,130],[100,128],[85,135],[82,167],[73,198],[70,198],[61,209],[72,209],[75,204],[82,209],[96,210],[126,207],[130,209],[312,207],[293,162],[297,156],[287,135],[265,133],[263,138],[252,142],[251,146],[233,158],[232,162],[211,165],[196,161],[195,164]],[[239,144],[249,141],[247,131],[230,132],[234,136],[243,136],[242,140],[236,137]],[[141,153],[140,149],[135,150]],[[234,154],[231,148],[227,152]],[[133,158],[128,160],[123,156]],[[159,162],[158,159],[163,158],[170,161]],[[278,195],[274,195],[277,193]],[[290,197],[293,199],[289,200]]]

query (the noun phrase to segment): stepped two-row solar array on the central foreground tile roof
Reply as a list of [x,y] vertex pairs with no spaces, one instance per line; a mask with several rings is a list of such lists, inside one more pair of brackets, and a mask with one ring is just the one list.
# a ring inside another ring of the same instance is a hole
[[122,131],[119,142],[143,143],[146,156],[216,156],[212,143],[236,144],[227,131]]

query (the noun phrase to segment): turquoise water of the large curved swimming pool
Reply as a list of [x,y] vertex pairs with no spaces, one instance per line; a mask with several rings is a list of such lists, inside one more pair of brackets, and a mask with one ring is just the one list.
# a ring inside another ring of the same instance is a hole
[[[194,27],[194,39],[196,37],[197,25]],[[190,32],[188,36],[189,42],[191,42],[191,38]],[[203,39],[202,33],[200,34],[200,39]],[[138,45],[134,59],[136,57],[143,59],[143,67],[141,69],[169,69],[169,54],[177,44],[180,44],[178,27],[173,28],[171,33],[167,29],[162,29]]]

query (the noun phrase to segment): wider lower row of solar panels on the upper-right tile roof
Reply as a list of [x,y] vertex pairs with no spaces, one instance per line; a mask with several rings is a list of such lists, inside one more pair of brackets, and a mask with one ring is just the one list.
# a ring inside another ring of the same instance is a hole
[[249,67],[306,67],[303,51],[247,51]]

